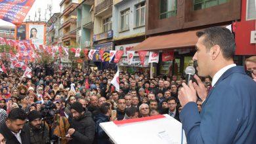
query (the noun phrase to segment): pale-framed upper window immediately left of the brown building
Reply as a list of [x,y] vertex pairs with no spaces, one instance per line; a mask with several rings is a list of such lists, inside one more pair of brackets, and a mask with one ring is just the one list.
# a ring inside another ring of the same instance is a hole
[[136,6],[136,27],[145,25],[145,2]]

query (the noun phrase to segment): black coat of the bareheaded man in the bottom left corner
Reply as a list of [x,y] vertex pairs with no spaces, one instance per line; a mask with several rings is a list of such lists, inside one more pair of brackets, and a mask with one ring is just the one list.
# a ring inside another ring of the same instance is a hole
[[[3,123],[0,127],[0,133],[5,137],[7,144],[20,144],[18,139],[12,134],[11,130],[7,128],[7,125]],[[22,139],[22,144],[30,144],[29,131],[23,128],[20,132],[20,137]]]

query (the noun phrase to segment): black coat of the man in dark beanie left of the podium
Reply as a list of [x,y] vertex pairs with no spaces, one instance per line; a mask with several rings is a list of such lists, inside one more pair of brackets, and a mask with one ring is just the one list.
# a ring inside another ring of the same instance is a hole
[[85,111],[79,120],[73,119],[70,128],[74,128],[75,132],[68,143],[93,143],[93,139],[95,138],[95,122],[91,117],[91,113],[88,111]]

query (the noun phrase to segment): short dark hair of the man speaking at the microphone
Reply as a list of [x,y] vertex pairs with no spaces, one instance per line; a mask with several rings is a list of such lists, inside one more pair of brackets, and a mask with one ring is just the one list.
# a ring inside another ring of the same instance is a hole
[[230,59],[234,57],[236,51],[234,35],[226,27],[209,27],[198,31],[196,35],[198,37],[205,37],[203,43],[207,51],[209,51],[212,46],[219,45],[224,58]]

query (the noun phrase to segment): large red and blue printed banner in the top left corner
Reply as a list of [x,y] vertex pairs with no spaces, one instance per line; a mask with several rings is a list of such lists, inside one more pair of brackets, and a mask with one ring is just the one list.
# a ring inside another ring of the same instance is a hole
[[0,19],[21,24],[35,0],[0,0]]

